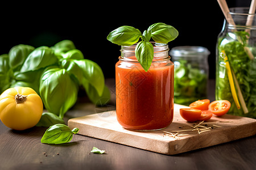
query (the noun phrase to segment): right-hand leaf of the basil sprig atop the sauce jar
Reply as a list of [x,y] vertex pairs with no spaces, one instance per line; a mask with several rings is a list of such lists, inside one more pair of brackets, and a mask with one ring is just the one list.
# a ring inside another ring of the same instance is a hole
[[152,24],[147,30],[152,32],[151,37],[155,42],[164,44],[176,39],[176,37],[179,35],[177,29],[164,23]]

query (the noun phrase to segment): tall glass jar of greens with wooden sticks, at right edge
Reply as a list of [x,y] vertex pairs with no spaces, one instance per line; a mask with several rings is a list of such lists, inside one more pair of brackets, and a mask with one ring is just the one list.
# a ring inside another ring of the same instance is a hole
[[248,11],[230,8],[218,35],[215,96],[230,101],[229,114],[256,118],[256,18]]

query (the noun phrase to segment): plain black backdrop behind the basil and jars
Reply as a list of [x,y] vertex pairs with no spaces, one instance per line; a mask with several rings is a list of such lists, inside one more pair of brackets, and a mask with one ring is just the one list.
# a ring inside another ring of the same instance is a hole
[[[250,0],[228,0],[229,7],[250,6]],[[179,36],[169,48],[181,45],[204,46],[210,78],[215,78],[215,48],[224,15],[217,1],[85,1],[24,2],[0,6],[0,54],[18,44],[53,46],[72,40],[84,57],[102,68],[106,78],[114,78],[120,46],[106,40],[109,32],[130,25],[141,32],[151,24],[174,26]]]

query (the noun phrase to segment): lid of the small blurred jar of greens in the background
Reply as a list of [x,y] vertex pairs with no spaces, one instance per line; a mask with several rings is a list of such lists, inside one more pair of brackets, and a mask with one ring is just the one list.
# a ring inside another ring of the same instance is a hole
[[203,46],[176,46],[170,50],[172,57],[201,58],[208,57],[209,50]]

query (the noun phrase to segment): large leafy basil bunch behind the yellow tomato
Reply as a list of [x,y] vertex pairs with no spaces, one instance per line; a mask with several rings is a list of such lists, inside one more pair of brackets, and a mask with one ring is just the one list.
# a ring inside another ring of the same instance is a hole
[[47,111],[60,118],[76,103],[81,88],[94,104],[110,99],[101,67],[85,59],[70,40],[51,47],[14,46],[0,56],[0,78],[1,93],[10,87],[31,87]]

